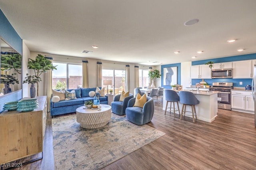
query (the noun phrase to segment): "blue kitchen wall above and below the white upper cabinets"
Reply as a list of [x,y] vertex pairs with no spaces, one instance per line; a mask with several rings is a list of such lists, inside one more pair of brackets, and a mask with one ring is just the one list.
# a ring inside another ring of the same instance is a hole
[[[214,63],[223,63],[223,62],[231,62],[231,61],[242,61],[242,60],[249,60],[249,59],[256,59],[256,53],[253,54],[246,54],[246,55],[236,55],[231,57],[223,57],[223,58],[216,58],[216,59],[207,59],[207,60],[200,60],[200,61],[192,61],[191,65],[201,65],[205,64],[208,61],[214,61]],[[192,79],[192,85],[196,85],[196,83],[200,83],[202,79]],[[233,82],[235,87],[245,87],[246,85],[252,85],[252,79],[232,79],[232,78],[218,78],[218,79],[204,79],[206,83],[212,85],[213,82]],[[240,81],[243,82],[240,85]]]

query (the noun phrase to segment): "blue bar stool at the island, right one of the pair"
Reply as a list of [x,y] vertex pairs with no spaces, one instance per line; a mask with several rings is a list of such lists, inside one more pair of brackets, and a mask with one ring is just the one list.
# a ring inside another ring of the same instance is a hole
[[[196,117],[196,107],[195,107],[195,105],[199,104],[198,99],[196,99],[196,96],[194,95],[194,93],[192,93],[190,91],[180,91],[179,95],[180,95],[180,103],[183,104],[180,119],[182,119],[183,113],[184,113],[184,116],[185,116],[186,106],[190,105],[191,106],[191,113],[192,113],[193,123],[195,123],[195,119],[194,119],[194,116]],[[190,112],[190,111],[187,111],[187,112]],[[196,119],[197,119],[197,117],[196,117]]]

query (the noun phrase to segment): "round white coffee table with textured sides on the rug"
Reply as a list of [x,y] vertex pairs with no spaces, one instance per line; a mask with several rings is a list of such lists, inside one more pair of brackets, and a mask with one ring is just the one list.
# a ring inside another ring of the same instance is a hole
[[76,121],[82,128],[100,128],[107,125],[111,119],[111,106],[100,104],[101,111],[98,109],[85,109],[84,106],[76,109]]

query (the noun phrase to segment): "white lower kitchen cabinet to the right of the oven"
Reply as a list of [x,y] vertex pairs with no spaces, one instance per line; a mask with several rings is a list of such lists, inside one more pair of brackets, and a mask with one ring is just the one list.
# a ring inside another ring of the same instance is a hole
[[232,91],[231,108],[235,111],[253,113],[254,100],[252,98],[252,91]]

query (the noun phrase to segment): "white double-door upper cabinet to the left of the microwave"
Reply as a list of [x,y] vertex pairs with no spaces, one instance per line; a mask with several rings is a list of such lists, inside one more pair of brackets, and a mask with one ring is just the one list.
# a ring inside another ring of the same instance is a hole
[[211,79],[211,69],[209,65],[192,65],[190,67],[191,79]]

